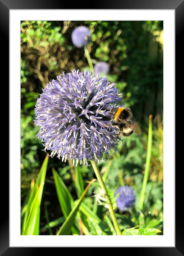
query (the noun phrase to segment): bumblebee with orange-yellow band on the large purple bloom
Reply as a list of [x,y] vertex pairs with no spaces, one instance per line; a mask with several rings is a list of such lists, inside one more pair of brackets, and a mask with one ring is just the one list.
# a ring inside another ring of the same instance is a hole
[[111,125],[118,128],[119,134],[123,136],[129,136],[133,132],[137,134],[142,133],[129,108],[116,107],[110,109],[109,113],[112,115]]

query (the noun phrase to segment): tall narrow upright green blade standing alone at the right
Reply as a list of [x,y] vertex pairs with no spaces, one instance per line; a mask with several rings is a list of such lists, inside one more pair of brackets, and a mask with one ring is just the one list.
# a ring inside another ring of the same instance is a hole
[[145,198],[146,185],[148,182],[151,155],[152,155],[152,115],[149,115],[148,146],[147,146],[147,155],[146,155],[143,184],[140,192],[140,203],[139,203],[140,210],[143,209],[143,205],[144,205],[144,198]]

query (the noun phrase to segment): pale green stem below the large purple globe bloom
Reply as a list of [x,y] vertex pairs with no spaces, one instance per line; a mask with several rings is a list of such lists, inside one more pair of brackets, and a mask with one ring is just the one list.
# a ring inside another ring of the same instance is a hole
[[119,226],[118,226],[118,222],[117,222],[116,216],[115,216],[114,211],[113,211],[111,199],[110,199],[110,197],[109,197],[109,195],[108,195],[107,188],[106,188],[105,183],[104,183],[104,181],[103,181],[103,179],[102,179],[102,176],[101,176],[101,173],[100,173],[100,171],[99,171],[99,168],[98,168],[97,164],[96,164],[94,161],[92,161],[92,160],[91,160],[91,164],[92,164],[94,173],[95,173],[96,176],[97,176],[97,179],[98,179],[98,181],[99,181],[99,184],[100,184],[101,188],[102,188],[103,191],[104,191],[105,198],[106,198],[107,203],[108,203],[108,205],[109,205],[109,212],[110,212],[110,214],[111,214],[111,218],[112,218],[112,221],[113,221],[113,223],[114,223],[114,227],[115,227],[115,230],[116,230],[116,232],[117,232],[117,235],[122,235],[122,233],[121,233],[121,231],[120,231],[120,229],[119,229]]

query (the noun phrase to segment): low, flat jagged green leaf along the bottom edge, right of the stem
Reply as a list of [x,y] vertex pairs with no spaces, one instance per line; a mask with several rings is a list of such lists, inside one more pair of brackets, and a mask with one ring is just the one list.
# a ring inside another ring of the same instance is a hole
[[157,233],[160,233],[160,232],[162,231],[157,228],[137,228],[137,229],[128,228],[123,230],[122,235],[151,236],[151,235],[156,235]]

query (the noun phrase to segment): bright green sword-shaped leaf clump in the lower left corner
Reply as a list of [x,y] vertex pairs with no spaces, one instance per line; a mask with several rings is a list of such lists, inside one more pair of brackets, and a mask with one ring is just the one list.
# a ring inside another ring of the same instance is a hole
[[42,164],[39,175],[31,182],[31,191],[27,203],[21,210],[22,228],[21,235],[39,235],[40,204],[44,188],[45,175],[48,164],[48,154]]

